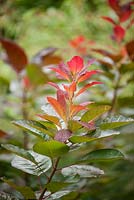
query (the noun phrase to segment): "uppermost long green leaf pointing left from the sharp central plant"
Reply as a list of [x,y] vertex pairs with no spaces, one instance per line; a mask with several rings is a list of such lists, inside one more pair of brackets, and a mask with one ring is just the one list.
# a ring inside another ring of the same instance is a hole
[[[44,122],[40,123],[34,120],[16,120],[13,123],[26,131],[30,131],[35,136],[45,139],[46,135],[54,137],[54,133],[49,131],[49,129],[43,125]],[[54,131],[54,130],[53,130]]]

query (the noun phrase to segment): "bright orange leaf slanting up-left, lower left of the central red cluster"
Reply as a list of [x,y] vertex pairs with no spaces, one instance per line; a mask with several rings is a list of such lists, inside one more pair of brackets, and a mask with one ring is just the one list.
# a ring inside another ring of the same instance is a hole
[[60,105],[60,103],[54,99],[53,97],[47,97],[48,102],[52,105],[52,107],[54,108],[54,110],[58,113],[58,115],[65,120],[65,113],[63,111],[62,106]]

